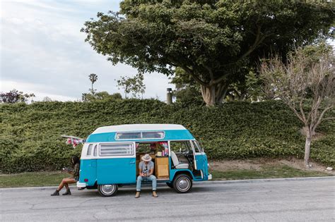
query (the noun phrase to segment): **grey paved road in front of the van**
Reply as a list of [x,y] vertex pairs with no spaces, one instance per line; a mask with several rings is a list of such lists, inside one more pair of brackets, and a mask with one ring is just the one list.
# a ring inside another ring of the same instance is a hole
[[158,187],[158,198],[134,186],[116,197],[54,188],[1,189],[0,221],[335,221],[335,178],[194,183],[177,194]]

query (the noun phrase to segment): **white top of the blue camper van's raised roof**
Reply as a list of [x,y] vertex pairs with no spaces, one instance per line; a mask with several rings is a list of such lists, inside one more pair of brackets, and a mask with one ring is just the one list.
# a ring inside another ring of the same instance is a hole
[[96,129],[92,134],[103,132],[127,132],[144,130],[186,130],[184,126],[177,124],[126,124],[109,125]]

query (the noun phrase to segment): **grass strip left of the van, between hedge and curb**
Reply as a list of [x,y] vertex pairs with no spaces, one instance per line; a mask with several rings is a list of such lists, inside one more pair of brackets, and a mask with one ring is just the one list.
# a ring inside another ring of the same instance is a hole
[[0,188],[59,185],[61,179],[69,178],[70,176],[69,173],[60,172],[1,174]]

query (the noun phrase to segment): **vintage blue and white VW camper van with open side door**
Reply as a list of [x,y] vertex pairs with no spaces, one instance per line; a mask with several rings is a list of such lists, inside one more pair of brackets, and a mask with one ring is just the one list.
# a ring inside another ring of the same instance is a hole
[[211,180],[204,150],[182,125],[111,125],[98,128],[84,143],[77,187],[115,195],[119,186],[136,184],[146,153],[155,163],[157,183],[177,192],[188,192],[192,180]]

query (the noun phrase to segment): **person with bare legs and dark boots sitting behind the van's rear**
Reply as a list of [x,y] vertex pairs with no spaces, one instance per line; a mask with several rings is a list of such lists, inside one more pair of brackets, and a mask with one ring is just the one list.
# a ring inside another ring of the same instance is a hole
[[59,191],[65,186],[66,187],[66,192],[64,192],[63,195],[71,195],[71,191],[69,188],[70,183],[77,183],[79,180],[79,164],[80,164],[80,159],[78,156],[72,156],[72,167],[74,168],[73,171],[68,171],[68,173],[72,174],[72,177],[70,178],[64,178],[61,180],[61,183],[59,184],[59,187],[57,190],[52,194],[52,196],[59,196]]

